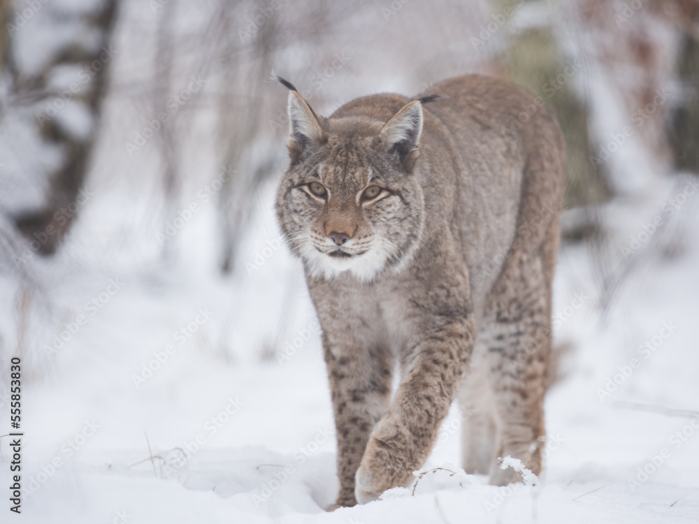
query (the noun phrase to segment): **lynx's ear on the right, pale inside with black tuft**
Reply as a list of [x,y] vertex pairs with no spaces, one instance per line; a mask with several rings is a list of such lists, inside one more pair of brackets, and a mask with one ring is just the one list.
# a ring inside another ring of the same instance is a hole
[[388,153],[398,152],[406,167],[412,168],[417,160],[417,146],[422,132],[422,103],[412,101],[383,126],[379,133]]

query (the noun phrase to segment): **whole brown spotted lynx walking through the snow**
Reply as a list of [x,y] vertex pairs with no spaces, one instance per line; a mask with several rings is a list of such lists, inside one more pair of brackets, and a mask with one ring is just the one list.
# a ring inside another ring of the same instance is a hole
[[278,80],[290,134],[275,209],[322,328],[335,507],[408,485],[455,398],[469,406],[466,472],[519,481],[498,467],[512,456],[538,474],[564,190],[556,120],[480,75],[330,117]]

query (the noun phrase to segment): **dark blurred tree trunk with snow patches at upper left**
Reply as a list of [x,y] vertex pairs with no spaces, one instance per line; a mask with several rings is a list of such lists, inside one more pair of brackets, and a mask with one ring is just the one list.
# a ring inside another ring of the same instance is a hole
[[[85,182],[96,134],[99,129],[101,105],[106,92],[111,62],[109,44],[117,20],[118,0],[96,2],[95,8],[82,19],[82,31],[69,45],[58,48],[52,59],[39,72],[23,75],[17,71],[13,93],[20,99],[34,102],[55,98],[50,81],[60,68],[80,66],[91,79],[85,91],[75,94],[73,100],[85,105],[91,117],[90,131],[75,133],[61,124],[60,119],[37,120],[38,134],[49,147],[62,150],[61,161],[48,173],[50,191],[43,208],[20,214],[15,218],[17,228],[30,240],[38,240],[42,254],[52,254],[64,238],[78,214],[80,189]],[[66,17],[75,16],[65,13]],[[99,41],[94,43],[94,36]],[[64,103],[67,103],[64,101]],[[84,196],[82,197],[85,198]]]

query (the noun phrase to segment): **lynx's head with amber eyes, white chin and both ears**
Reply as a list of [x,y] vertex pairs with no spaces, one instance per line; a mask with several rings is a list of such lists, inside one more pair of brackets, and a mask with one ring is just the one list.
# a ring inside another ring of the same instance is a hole
[[369,119],[338,125],[291,92],[291,163],[276,210],[291,252],[311,275],[349,271],[366,282],[410,259],[424,202],[412,174],[422,114],[419,103],[408,106],[385,126]]

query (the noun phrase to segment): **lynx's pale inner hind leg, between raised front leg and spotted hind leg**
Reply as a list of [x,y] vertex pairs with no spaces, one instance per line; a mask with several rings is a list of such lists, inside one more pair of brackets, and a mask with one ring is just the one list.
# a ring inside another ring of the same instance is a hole
[[493,395],[484,367],[482,347],[477,342],[469,375],[459,388],[461,425],[461,464],[469,474],[487,474],[495,453],[496,426]]

